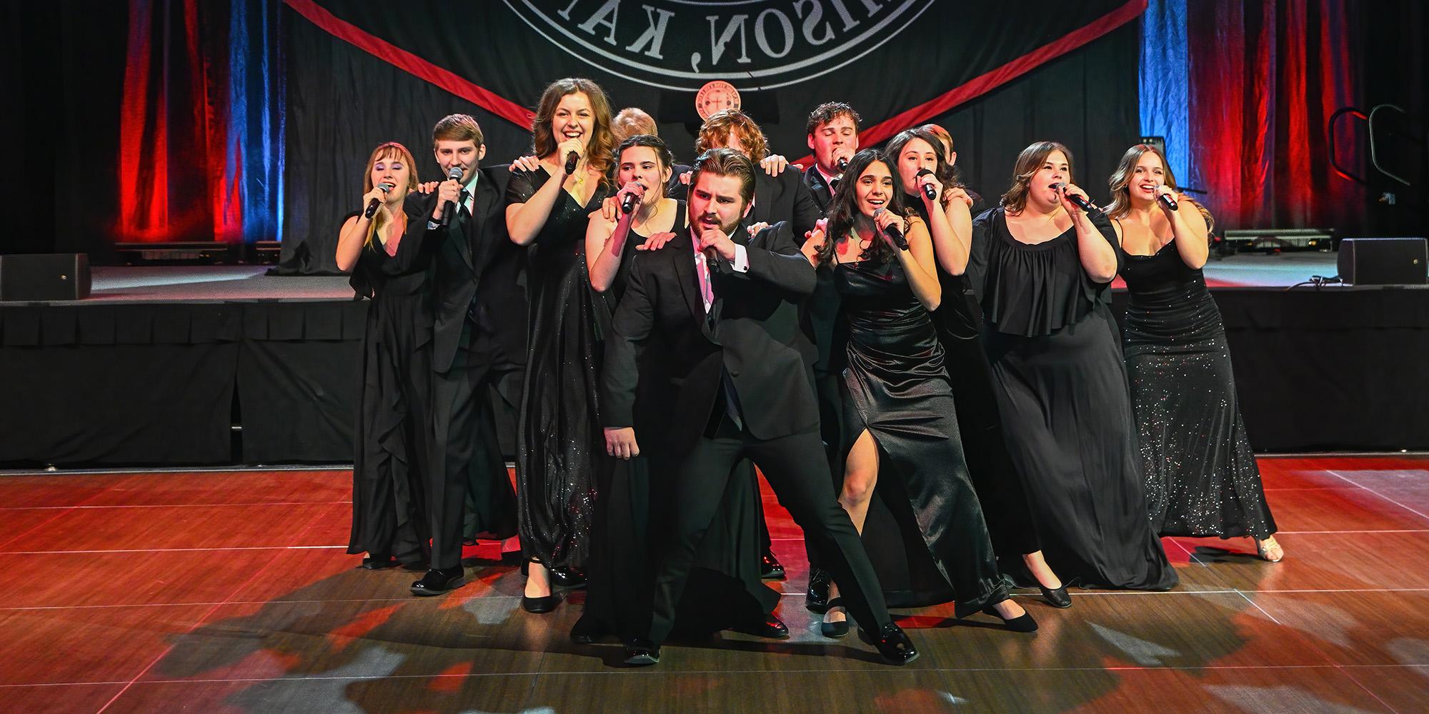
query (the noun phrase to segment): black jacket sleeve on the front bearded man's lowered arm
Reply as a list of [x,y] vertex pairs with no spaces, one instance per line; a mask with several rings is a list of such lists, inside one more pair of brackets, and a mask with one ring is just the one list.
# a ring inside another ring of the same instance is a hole
[[[663,253],[653,253],[653,260],[666,258]],[[652,283],[642,270],[642,263],[647,258],[637,256],[630,266],[630,276],[626,280],[624,296],[620,297],[620,307],[616,308],[612,337],[606,340],[604,368],[600,378],[600,390],[604,401],[604,427],[622,428],[634,426],[634,391],[640,383],[640,354],[644,353],[644,343],[654,330],[654,296]]]

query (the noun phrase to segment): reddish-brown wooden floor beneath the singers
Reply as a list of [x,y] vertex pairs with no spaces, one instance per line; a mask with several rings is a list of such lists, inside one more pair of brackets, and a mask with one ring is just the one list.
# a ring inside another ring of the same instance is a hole
[[949,608],[906,613],[922,657],[879,664],[803,608],[790,641],[670,644],[654,668],[576,647],[580,593],[520,610],[494,544],[474,581],[414,598],[406,571],[343,553],[346,471],[0,477],[0,710],[153,711],[1425,711],[1429,458],[1266,458],[1286,558],[1246,540],[1167,538],[1172,593],[1027,593],[1019,635]]

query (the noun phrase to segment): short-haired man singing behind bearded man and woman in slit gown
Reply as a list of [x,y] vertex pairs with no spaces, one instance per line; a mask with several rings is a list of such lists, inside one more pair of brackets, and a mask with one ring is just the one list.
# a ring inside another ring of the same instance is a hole
[[[803,181],[815,206],[819,207],[819,214],[827,216],[843,166],[859,150],[859,113],[842,101],[826,101],[809,113],[805,129],[809,149],[813,151],[813,164],[805,169]],[[803,234],[795,236],[795,240],[803,238]],[[819,436],[829,458],[829,476],[837,490],[843,483],[843,454],[847,451],[847,444],[840,441],[843,397],[839,394],[839,386],[843,383],[840,377],[843,336],[835,333],[839,291],[833,286],[832,267],[817,266],[816,276],[817,284],[813,297],[803,306],[800,323],[817,350],[813,380],[819,394]],[[805,607],[823,613],[829,607],[829,571],[819,567],[819,551],[813,543],[805,541],[805,553],[809,557],[809,590],[805,593]]]

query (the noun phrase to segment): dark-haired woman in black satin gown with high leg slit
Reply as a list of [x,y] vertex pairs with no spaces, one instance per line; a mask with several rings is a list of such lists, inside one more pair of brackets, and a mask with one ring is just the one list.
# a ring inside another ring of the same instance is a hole
[[[933,244],[926,224],[903,208],[892,166],[872,149],[855,154],[830,204],[827,236],[815,230],[803,247],[815,266],[833,266],[849,334],[842,393],[843,443],[852,447],[839,501],[863,533],[875,488],[883,491],[900,528],[920,536],[916,555],[930,555],[945,583],[939,590],[950,590],[943,601],[956,600],[957,617],[986,611],[1012,630],[1032,631],[1032,615],[1007,598],[967,478],[929,317],[940,300]],[[875,563],[889,557],[870,555]],[[849,627],[836,593],[833,587],[822,628],[829,637]]]

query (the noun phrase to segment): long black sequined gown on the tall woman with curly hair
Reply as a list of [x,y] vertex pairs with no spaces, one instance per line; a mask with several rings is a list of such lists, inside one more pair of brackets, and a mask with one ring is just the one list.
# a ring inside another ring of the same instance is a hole
[[[550,180],[542,169],[512,171],[507,203],[526,203]],[[596,208],[610,190],[596,188]],[[606,477],[597,393],[597,323],[610,307],[586,271],[589,210],[562,190],[527,256],[529,356],[516,427],[516,498],[523,554],[546,567],[584,567],[596,486]]]

